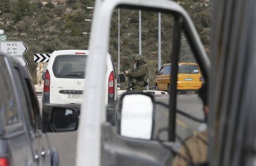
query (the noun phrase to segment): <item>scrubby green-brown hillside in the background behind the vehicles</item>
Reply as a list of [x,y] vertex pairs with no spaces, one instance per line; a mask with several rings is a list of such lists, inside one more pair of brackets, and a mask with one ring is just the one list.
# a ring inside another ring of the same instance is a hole
[[[205,48],[209,50],[209,2],[206,0],[177,1],[191,14]],[[88,49],[90,22],[93,10],[91,0],[1,0],[0,29],[5,29],[8,40],[22,40],[28,51],[24,58],[29,63],[33,78],[36,78],[35,53],[51,53],[59,49]],[[138,11],[121,10],[121,71],[133,67],[130,55],[138,53]],[[162,19],[162,60],[170,62],[172,25],[170,18]],[[166,20],[166,21],[164,21]],[[103,27],[102,27],[103,28]],[[110,49],[117,67],[118,55],[117,10],[113,13],[110,34]],[[158,54],[158,14],[142,12],[142,54],[150,66],[150,85],[154,84]],[[189,61],[189,58],[184,57]]]

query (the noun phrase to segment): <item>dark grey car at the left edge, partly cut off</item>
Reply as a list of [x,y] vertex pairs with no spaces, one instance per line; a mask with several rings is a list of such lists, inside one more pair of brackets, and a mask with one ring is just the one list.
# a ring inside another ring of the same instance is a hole
[[56,150],[42,132],[30,73],[0,53],[0,77],[0,165],[59,165]]

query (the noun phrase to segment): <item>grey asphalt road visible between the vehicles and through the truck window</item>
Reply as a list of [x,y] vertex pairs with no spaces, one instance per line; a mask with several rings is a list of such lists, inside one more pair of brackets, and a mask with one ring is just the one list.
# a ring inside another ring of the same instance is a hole
[[[38,97],[40,108],[42,108],[42,97]],[[168,96],[156,96],[156,101],[162,101],[168,104]],[[186,113],[192,114],[195,117],[203,118],[202,105],[197,95],[179,95],[177,99],[177,108]],[[189,135],[195,133],[199,127],[199,123],[189,120],[179,114],[176,119],[176,135],[184,139]],[[168,126],[168,109],[156,105],[156,119],[155,119],[155,135],[159,129]],[[76,141],[77,132],[68,133],[48,133],[48,137],[60,157],[60,165],[68,166],[75,165],[76,162]],[[162,140],[167,139],[167,133],[159,134]]]

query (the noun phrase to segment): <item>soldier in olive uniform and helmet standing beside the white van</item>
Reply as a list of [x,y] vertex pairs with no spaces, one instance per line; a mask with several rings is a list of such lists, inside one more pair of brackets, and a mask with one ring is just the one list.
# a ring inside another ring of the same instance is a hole
[[149,70],[147,62],[140,54],[135,54],[133,56],[133,61],[136,68],[131,71],[125,70],[124,72],[129,78],[127,90],[130,90],[131,88],[132,91],[143,91],[144,87],[148,85],[147,79]]

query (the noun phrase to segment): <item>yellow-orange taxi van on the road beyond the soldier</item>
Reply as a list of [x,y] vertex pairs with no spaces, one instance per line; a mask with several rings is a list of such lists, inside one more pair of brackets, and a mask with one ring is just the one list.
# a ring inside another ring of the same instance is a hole
[[[171,63],[164,64],[161,69],[156,72],[155,90],[171,91]],[[202,86],[202,76],[199,65],[197,63],[179,63],[179,71],[177,74],[177,90],[199,90]]]

